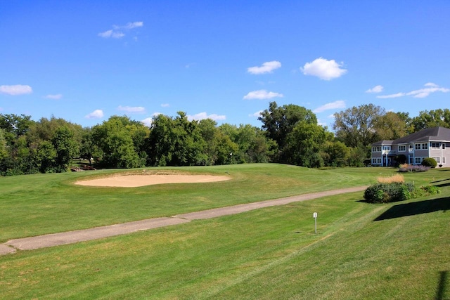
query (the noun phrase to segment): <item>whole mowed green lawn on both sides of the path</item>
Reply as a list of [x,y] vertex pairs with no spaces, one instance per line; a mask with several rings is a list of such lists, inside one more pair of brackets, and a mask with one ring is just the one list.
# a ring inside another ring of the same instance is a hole
[[[233,179],[117,189],[72,185],[111,171],[21,176],[23,185],[20,176],[0,178],[0,209],[11,222],[1,218],[2,239],[369,185],[395,171],[176,170]],[[442,193],[392,204],[351,193],[0,256],[0,299],[449,299],[450,170],[405,178]]]

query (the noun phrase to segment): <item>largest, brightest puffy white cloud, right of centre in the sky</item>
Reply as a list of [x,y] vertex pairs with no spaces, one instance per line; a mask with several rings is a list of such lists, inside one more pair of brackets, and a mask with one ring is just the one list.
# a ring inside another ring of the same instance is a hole
[[330,80],[341,77],[347,73],[347,70],[341,69],[343,63],[336,63],[335,60],[326,60],[325,58],[317,58],[312,63],[305,63],[300,67],[303,74],[319,77],[323,80]]

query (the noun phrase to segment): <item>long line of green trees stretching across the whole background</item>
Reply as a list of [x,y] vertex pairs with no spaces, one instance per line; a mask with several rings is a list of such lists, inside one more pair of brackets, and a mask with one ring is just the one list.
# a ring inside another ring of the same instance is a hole
[[100,168],[202,166],[279,162],[303,167],[363,166],[371,143],[393,140],[433,126],[450,128],[450,110],[425,110],[417,117],[360,105],[335,113],[333,132],[299,105],[269,103],[262,126],[217,125],[158,115],[150,126],[126,116],[82,127],[56,117],[33,121],[0,114],[1,176],[68,171],[72,159]]

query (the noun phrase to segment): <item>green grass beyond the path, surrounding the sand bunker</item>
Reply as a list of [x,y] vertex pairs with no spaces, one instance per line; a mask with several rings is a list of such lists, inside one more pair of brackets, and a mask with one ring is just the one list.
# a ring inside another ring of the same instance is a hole
[[[219,183],[98,188],[73,185],[80,179],[123,170],[0,177],[0,242],[18,237],[174,216],[233,204],[369,185],[380,169],[317,170],[280,164],[154,168],[193,174],[228,175]],[[383,170],[392,174],[392,169]],[[139,172],[139,171],[136,171]],[[142,172],[142,171],[140,171]],[[416,176],[420,178],[419,176]],[[422,176],[423,177],[423,176]]]

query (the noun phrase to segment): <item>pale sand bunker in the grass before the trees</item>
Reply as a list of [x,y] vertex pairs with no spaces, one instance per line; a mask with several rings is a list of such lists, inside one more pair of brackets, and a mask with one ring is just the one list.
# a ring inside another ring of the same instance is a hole
[[126,175],[77,181],[78,185],[136,188],[144,185],[164,183],[205,183],[229,180],[228,176],[212,175]]

